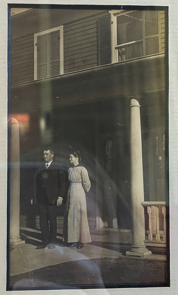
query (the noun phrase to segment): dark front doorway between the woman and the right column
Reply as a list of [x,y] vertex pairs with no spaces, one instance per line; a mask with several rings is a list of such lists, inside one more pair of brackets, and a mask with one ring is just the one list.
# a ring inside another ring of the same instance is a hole
[[96,140],[97,227],[130,229],[129,142],[123,132],[100,133]]

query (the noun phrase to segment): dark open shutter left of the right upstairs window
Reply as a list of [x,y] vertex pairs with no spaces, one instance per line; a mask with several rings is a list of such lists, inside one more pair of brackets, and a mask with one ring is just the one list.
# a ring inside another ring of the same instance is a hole
[[111,19],[110,14],[97,19],[97,65],[111,63]]

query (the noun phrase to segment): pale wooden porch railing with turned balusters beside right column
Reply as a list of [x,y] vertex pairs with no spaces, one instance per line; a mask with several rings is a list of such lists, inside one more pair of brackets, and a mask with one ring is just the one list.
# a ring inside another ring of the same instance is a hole
[[142,202],[145,214],[145,245],[166,247],[166,202]]

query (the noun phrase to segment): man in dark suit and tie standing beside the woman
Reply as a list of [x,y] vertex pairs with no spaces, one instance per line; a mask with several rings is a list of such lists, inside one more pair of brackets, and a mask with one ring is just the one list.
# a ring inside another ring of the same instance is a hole
[[57,206],[61,206],[66,192],[66,174],[59,163],[53,161],[54,152],[46,148],[44,165],[38,167],[34,179],[33,203],[39,204],[39,224],[42,243],[36,249],[48,246],[54,249],[57,235]]

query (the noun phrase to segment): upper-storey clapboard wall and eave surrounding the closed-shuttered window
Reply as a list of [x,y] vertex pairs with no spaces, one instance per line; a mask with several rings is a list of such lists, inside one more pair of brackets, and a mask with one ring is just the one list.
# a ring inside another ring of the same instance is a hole
[[[106,13],[107,11],[101,10],[83,10],[81,18],[81,11],[78,10],[74,10],[71,14],[71,10],[66,9],[45,10],[43,13],[35,9],[26,14],[29,22],[26,21],[25,14],[18,18],[12,17],[11,85],[34,80],[34,33],[62,24],[64,25],[64,73],[96,67],[96,23],[97,19]],[[21,25],[18,26],[18,23]]]

